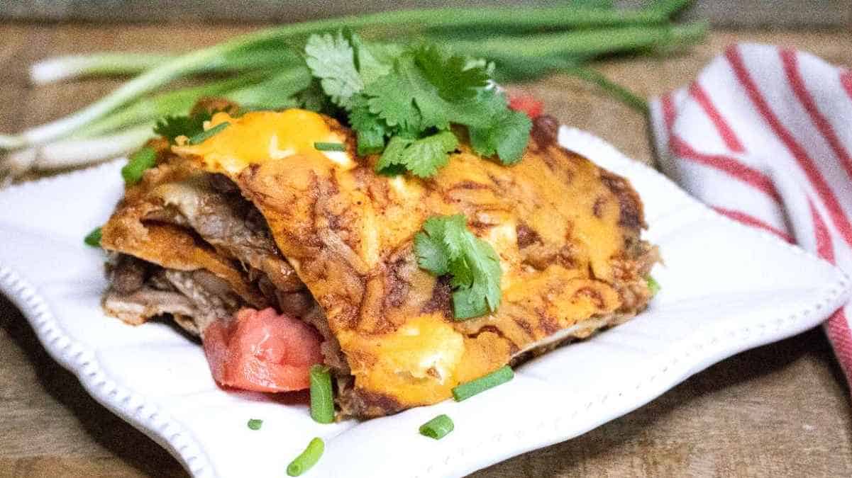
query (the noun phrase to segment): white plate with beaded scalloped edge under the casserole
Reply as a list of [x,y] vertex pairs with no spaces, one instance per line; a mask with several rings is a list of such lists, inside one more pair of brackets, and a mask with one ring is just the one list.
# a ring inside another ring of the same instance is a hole
[[[560,140],[639,191],[646,237],[665,259],[653,271],[662,292],[625,325],[531,361],[509,384],[462,403],[315,424],[303,404],[219,390],[199,346],[170,327],[104,316],[103,255],[83,236],[121,196],[121,162],[0,193],[0,286],[97,401],[197,476],[283,476],[314,436],[325,439],[325,456],[307,476],[465,475],[580,435],[725,357],[814,327],[849,296],[840,270],[713,213],[601,139],[562,128]],[[456,430],[440,441],[418,435],[438,413]],[[262,430],[249,430],[249,418],[262,418]]]

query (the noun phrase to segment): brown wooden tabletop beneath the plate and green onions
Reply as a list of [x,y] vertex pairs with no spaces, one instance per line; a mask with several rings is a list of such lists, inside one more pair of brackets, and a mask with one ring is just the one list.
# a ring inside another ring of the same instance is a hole
[[[0,130],[74,111],[116,84],[33,89],[25,77],[33,60],[102,49],[189,48],[245,30],[0,24]],[[607,60],[601,70],[640,94],[662,94],[687,83],[735,41],[782,43],[852,65],[848,31],[723,31],[676,58]],[[545,100],[562,122],[651,161],[644,118],[594,88],[561,76],[521,88]],[[850,418],[843,378],[824,334],[815,330],[735,356],[586,435],[473,476],[849,475]],[[47,356],[20,312],[0,299],[0,477],[183,474],[167,452],[89,398]]]

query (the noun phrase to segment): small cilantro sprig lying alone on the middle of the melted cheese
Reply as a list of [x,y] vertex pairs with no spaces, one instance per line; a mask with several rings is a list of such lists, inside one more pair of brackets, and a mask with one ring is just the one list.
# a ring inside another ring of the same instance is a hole
[[494,249],[473,235],[462,214],[433,216],[414,236],[417,265],[435,276],[452,276],[453,315],[483,316],[500,305],[500,261]]

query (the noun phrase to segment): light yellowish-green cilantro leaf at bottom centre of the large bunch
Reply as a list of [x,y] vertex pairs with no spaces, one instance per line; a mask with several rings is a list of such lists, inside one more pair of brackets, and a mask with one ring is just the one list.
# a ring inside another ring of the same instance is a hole
[[394,164],[405,166],[420,178],[429,178],[450,161],[449,153],[458,148],[458,139],[450,131],[441,131],[421,139],[394,136],[376,163],[382,172]]

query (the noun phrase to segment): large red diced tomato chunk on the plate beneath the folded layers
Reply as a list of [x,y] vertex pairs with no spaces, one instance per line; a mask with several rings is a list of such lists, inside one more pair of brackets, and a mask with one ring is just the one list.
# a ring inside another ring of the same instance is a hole
[[322,363],[320,335],[274,309],[241,309],[202,335],[210,373],[221,385],[282,392],[310,386],[309,369]]

